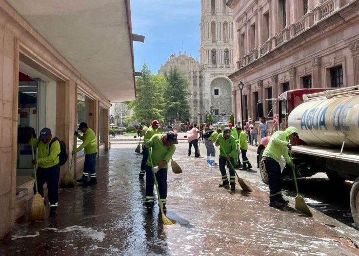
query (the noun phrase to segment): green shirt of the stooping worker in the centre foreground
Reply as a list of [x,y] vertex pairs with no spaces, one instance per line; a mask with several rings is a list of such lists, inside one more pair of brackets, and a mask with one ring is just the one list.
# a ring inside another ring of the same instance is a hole
[[[164,145],[162,143],[162,136],[166,135],[155,134],[148,141],[150,148],[152,148],[152,153],[149,151],[149,154],[151,154],[153,166],[157,166],[163,160],[166,160],[168,163],[171,160],[174,151],[176,150],[176,146],[174,144],[170,146]],[[150,156],[148,156],[146,165],[152,167]],[[166,164],[163,168],[168,168],[168,164]]]

